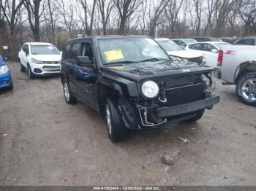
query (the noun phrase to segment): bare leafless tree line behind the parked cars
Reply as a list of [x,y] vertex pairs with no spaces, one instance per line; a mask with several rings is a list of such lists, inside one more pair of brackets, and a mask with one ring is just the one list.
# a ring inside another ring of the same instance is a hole
[[78,34],[156,30],[169,38],[254,35],[256,0],[0,0],[0,45],[13,54],[26,41],[61,47]]

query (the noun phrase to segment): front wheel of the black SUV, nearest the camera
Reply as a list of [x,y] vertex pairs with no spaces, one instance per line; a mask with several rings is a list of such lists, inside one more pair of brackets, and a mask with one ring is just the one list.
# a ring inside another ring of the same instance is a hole
[[110,141],[123,141],[127,136],[128,129],[124,126],[121,120],[121,115],[118,112],[118,101],[107,98],[105,104],[105,117],[107,122],[108,136]]

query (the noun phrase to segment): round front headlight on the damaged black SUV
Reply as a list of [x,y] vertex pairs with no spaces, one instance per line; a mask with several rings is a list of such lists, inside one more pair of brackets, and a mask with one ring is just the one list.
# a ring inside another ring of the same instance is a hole
[[156,82],[148,80],[143,83],[141,90],[143,95],[145,95],[147,98],[154,98],[159,93],[159,86]]

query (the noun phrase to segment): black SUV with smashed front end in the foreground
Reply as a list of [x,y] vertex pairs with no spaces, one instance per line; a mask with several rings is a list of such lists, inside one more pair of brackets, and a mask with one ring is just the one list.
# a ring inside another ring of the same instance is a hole
[[67,104],[80,100],[104,114],[113,142],[124,139],[128,129],[199,120],[219,102],[219,95],[209,90],[211,71],[170,60],[148,36],[72,39],[61,59]]

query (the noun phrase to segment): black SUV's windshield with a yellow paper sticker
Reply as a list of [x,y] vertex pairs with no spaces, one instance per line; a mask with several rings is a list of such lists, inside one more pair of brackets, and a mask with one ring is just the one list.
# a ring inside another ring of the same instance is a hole
[[98,39],[98,44],[104,64],[169,59],[165,51],[149,38]]

